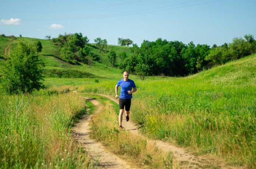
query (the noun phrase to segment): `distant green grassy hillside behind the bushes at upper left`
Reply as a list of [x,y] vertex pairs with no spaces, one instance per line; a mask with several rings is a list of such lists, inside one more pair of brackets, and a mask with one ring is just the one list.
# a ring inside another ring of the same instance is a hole
[[[60,52],[59,52],[59,47],[53,44],[51,41],[46,40],[46,39],[35,39],[35,38],[27,38],[27,37],[22,37],[22,38],[17,38],[13,42],[11,42],[11,49],[13,49],[15,46],[17,46],[17,41],[18,39],[27,41],[28,43],[35,43],[37,40],[39,40],[42,43],[43,49],[41,54],[43,54],[43,58],[45,58],[46,62],[46,70],[47,69],[73,69],[73,70],[78,70],[81,72],[88,72],[92,73],[95,76],[102,76],[104,78],[109,78],[113,76],[113,74],[119,73],[120,70],[116,68],[112,68],[110,66],[110,63],[108,59],[106,58],[106,53],[103,51],[98,50],[95,44],[90,44],[89,48],[91,48],[92,53],[99,55],[100,60],[98,62],[94,62],[92,66],[88,66],[86,64],[81,64],[81,65],[70,65],[66,62],[60,61],[56,57],[60,57]],[[3,63],[3,57],[4,57],[4,48],[7,46],[8,42],[13,40],[13,38],[8,38],[8,37],[3,37],[0,36],[0,63]],[[108,50],[113,49],[117,55],[122,53],[123,51],[129,55],[129,47],[124,47],[124,46],[113,46],[113,45],[108,45]],[[117,57],[117,65],[120,65],[120,58]],[[2,72],[2,66],[0,64],[0,75],[3,73]],[[101,72],[104,72],[103,74]],[[46,76],[48,77],[48,76]],[[54,76],[53,76],[54,77]]]

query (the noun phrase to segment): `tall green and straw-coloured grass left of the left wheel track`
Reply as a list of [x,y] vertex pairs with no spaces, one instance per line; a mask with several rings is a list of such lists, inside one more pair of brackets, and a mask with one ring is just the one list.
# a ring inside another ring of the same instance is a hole
[[85,102],[68,91],[0,95],[1,168],[92,168],[71,137]]

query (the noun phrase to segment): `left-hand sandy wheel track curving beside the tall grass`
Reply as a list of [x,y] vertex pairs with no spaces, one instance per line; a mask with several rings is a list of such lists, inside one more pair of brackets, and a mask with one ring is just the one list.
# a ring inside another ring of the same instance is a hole
[[[100,113],[101,110],[104,109],[104,106],[100,104],[99,101],[91,100],[91,102],[97,107],[94,114]],[[97,163],[97,168],[131,168],[124,160],[105,150],[103,145],[90,139],[90,119],[91,115],[83,116],[73,127],[72,133],[74,138],[81,143],[82,147],[90,153],[95,163]]]

